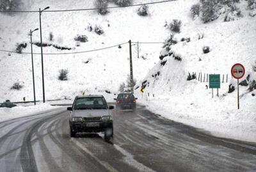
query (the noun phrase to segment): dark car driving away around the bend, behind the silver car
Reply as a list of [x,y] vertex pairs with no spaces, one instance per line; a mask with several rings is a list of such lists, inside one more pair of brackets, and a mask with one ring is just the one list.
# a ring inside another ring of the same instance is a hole
[[136,100],[132,93],[120,93],[117,95],[116,100],[116,108],[118,109],[136,109]]

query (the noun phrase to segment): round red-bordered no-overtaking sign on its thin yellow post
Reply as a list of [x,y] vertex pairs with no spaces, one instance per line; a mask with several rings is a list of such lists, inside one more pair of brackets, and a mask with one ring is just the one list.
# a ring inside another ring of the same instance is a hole
[[237,109],[240,108],[239,104],[239,79],[241,79],[245,74],[245,68],[242,64],[236,63],[231,68],[232,77],[237,79]]

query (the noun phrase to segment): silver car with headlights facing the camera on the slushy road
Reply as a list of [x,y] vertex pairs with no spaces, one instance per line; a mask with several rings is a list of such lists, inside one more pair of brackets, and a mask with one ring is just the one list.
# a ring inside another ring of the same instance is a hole
[[104,139],[113,137],[113,118],[111,111],[102,95],[77,96],[69,114],[70,137],[77,132],[104,132]]

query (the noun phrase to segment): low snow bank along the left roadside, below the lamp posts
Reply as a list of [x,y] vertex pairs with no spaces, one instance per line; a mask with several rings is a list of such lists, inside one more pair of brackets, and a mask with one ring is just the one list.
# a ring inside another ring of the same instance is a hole
[[[15,106],[12,108],[1,107],[0,108],[0,122],[11,120],[13,118],[19,118],[22,116],[29,116],[36,113],[48,111],[48,110],[57,110],[60,107],[51,106],[48,103],[38,103],[36,106]],[[63,108],[62,108],[63,109]]]

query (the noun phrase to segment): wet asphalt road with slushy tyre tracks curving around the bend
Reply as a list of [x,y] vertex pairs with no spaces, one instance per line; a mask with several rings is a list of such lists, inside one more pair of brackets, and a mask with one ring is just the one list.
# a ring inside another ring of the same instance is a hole
[[65,109],[0,123],[0,171],[256,171],[255,143],[212,137],[144,107],[113,111],[109,143],[103,134],[71,139]]

